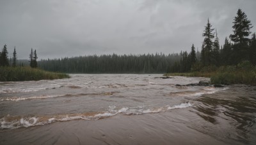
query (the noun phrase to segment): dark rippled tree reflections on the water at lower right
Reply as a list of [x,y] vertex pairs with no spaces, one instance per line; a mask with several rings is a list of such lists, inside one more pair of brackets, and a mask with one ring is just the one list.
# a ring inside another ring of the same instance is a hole
[[219,126],[227,132],[234,130],[235,134],[229,135],[229,138],[250,143],[250,138],[255,138],[253,135],[256,129],[255,88],[255,86],[232,86],[226,93],[198,97],[196,99],[198,105],[194,109],[205,121],[214,125],[220,124]]

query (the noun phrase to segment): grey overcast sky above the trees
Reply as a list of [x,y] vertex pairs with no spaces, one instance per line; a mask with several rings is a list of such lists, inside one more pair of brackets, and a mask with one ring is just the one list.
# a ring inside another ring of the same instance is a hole
[[18,59],[201,50],[207,18],[222,45],[238,8],[256,32],[255,0],[1,0],[0,46]]

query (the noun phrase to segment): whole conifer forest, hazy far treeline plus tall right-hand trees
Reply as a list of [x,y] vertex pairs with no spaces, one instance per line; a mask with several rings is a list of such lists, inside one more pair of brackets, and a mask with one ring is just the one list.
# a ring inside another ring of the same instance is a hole
[[204,42],[201,52],[172,53],[169,55],[89,55],[64,59],[40,60],[38,66],[47,71],[72,73],[163,73],[200,71],[203,67],[237,65],[243,60],[256,64],[256,38],[252,38],[252,24],[246,14],[239,9],[233,22],[233,34],[225,38],[220,46],[218,31],[207,21],[202,34]]

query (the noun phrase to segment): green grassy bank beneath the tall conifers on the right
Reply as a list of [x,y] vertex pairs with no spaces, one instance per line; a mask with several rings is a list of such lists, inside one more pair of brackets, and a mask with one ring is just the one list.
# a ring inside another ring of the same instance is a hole
[[242,62],[237,66],[221,66],[214,71],[168,73],[164,76],[207,77],[211,78],[212,84],[256,85],[256,67],[249,62]]

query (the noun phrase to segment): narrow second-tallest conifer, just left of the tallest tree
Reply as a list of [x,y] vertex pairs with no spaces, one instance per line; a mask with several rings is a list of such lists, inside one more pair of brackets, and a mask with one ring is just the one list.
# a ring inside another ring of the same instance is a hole
[[204,62],[205,66],[209,66],[212,63],[212,39],[214,38],[214,29],[211,28],[212,25],[208,22],[205,26],[205,30],[203,33],[204,36]]

